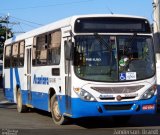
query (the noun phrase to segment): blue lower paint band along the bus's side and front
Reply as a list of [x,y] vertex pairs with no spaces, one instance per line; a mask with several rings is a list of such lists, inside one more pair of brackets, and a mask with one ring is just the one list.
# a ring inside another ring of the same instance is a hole
[[[6,89],[7,91],[7,89]],[[9,93],[8,93],[9,94]],[[11,94],[11,93],[10,93]],[[28,103],[28,91],[22,90],[23,104]],[[57,96],[61,114],[67,113],[66,96]],[[139,114],[155,114],[156,113],[156,96],[148,100],[124,101],[124,102],[88,102],[80,98],[71,98],[71,116],[72,118],[89,117],[89,116],[114,116],[114,115],[139,115]],[[127,105],[132,104],[129,110],[111,111],[104,108],[107,105]],[[151,110],[142,110],[143,105],[154,104],[155,108]],[[33,92],[31,105],[35,108],[48,111],[49,95],[47,93]],[[136,106],[139,109],[136,110]],[[98,111],[101,107],[102,112]]]

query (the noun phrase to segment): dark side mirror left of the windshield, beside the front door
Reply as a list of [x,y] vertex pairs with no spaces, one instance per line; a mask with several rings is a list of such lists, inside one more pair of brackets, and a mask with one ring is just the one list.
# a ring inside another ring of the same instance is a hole
[[72,60],[73,59],[73,50],[74,45],[71,41],[65,42],[65,58],[66,60]]

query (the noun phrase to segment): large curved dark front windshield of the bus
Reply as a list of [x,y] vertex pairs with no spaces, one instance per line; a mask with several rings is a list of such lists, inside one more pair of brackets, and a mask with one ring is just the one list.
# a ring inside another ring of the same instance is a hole
[[155,74],[151,36],[75,36],[75,74],[84,80],[121,82]]

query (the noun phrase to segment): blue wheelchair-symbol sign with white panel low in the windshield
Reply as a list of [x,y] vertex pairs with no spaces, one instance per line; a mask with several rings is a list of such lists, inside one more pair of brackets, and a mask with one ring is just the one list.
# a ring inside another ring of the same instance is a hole
[[124,81],[124,80],[136,80],[137,79],[137,74],[136,74],[136,72],[120,73],[119,74],[119,79],[121,81]]

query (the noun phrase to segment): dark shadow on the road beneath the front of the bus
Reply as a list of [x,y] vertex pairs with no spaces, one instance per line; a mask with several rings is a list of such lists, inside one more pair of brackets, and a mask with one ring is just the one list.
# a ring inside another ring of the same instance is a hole
[[128,128],[128,127],[150,127],[156,128],[160,126],[160,113],[155,115],[140,115],[133,116],[127,123],[123,121],[113,121],[111,117],[92,117],[92,118],[81,118],[76,119],[75,125],[87,128]]

